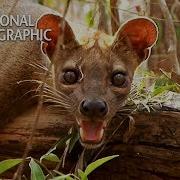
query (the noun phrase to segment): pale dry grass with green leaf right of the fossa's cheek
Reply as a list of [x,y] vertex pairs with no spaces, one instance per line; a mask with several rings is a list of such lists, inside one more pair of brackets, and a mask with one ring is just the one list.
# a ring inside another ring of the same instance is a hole
[[155,111],[173,99],[169,92],[180,93],[180,85],[171,80],[171,74],[162,73],[157,77],[153,72],[143,72],[144,77],[132,85],[127,105],[134,107],[133,111]]

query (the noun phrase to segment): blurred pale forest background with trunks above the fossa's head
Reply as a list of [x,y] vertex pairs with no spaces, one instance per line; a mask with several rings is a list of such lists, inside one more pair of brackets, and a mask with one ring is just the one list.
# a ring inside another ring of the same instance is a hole
[[[148,68],[156,73],[159,69],[170,72],[175,64],[174,57],[171,57],[172,38],[170,34],[172,26],[168,24],[167,17],[162,11],[162,0],[39,0],[40,4],[48,6],[63,14],[65,6],[69,2],[69,8],[66,18],[74,24],[76,32],[85,34],[89,30],[97,30],[99,24],[107,28],[104,32],[114,34],[122,23],[130,18],[137,16],[147,16],[152,18],[159,28],[159,38],[156,46],[153,48]],[[164,0],[169,10],[169,14],[174,24],[174,32],[177,39],[177,59],[180,64],[180,0]],[[100,9],[103,6],[104,9]],[[103,22],[100,22],[100,10],[103,12]],[[115,11],[116,14],[113,14]],[[118,19],[117,19],[118,17]],[[115,21],[115,30],[113,30],[112,21]],[[87,31],[88,30],[88,31]],[[172,33],[172,32],[171,32]],[[177,61],[177,60],[176,60]],[[166,67],[164,67],[166,66]]]

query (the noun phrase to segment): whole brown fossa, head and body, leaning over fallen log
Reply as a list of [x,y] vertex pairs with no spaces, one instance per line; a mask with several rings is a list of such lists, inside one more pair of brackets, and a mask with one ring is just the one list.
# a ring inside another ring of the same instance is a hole
[[[8,14],[11,1],[0,3],[0,15]],[[52,30],[51,41],[0,42],[0,122],[37,103],[32,100],[37,84],[24,80],[41,80],[30,64],[47,66],[51,59],[54,87],[46,88],[44,97],[59,112],[73,117],[83,145],[100,145],[108,122],[124,105],[135,69],[156,42],[154,22],[144,17],[130,20],[111,45],[102,47],[94,39],[91,46],[83,46],[69,24],[48,8],[20,1],[12,14],[32,15],[36,28]]]

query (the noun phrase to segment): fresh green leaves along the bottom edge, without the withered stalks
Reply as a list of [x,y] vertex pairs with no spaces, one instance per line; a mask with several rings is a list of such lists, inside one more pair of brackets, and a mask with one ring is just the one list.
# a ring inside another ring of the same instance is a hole
[[[101,159],[96,160],[95,162],[92,162],[87,166],[87,168],[82,171],[78,169],[77,175],[75,174],[63,174],[61,172],[58,172],[56,170],[49,171],[47,168],[44,168],[45,166],[42,164],[42,162],[32,158],[28,157],[26,158],[26,161],[29,162],[29,167],[31,169],[31,180],[45,180],[45,179],[51,179],[51,180],[87,180],[89,174],[91,174],[96,168],[103,165],[104,163],[118,157],[118,155],[114,156],[108,156]],[[42,160],[42,159],[41,159]],[[58,162],[59,158],[54,154],[46,155],[46,160]],[[23,162],[23,159],[9,159],[0,162],[0,174],[6,172],[7,170],[11,169],[12,167],[15,167],[16,165]],[[45,174],[42,170],[42,167],[46,169],[47,173]]]

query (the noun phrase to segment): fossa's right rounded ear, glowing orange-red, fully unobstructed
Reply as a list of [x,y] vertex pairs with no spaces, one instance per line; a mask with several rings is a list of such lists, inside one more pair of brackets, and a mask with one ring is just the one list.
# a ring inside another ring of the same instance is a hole
[[158,28],[155,22],[149,18],[140,17],[121,26],[117,32],[116,42],[125,40],[142,61],[149,57],[157,38]]

